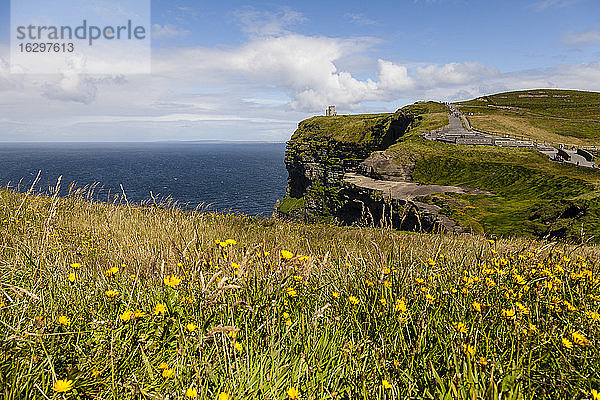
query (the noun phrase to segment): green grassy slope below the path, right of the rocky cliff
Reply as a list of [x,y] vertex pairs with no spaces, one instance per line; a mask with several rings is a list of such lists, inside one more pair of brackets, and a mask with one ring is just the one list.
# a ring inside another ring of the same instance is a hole
[[[542,111],[542,107],[535,109]],[[535,236],[566,229],[566,236],[575,239],[583,223],[584,234],[600,238],[597,170],[554,163],[534,150],[427,141],[414,134],[421,130],[425,129],[415,127],[389,149],[396,154],[398,163],[416,164],[415,181],[476,187],[494,193],[435,195],[425,199],[441,205],[445,213],[468,230]],[[572,204],[587,209],[577,223],[561,218]]]

